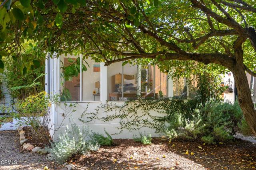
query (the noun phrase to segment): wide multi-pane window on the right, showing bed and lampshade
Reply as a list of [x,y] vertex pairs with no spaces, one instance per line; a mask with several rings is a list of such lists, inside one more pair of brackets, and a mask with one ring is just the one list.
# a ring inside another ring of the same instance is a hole
[[108,100],[136,100],[138,94],[144,98],[167,97],[167,75],[152,65],[138,68],[119,62],[108,66]]

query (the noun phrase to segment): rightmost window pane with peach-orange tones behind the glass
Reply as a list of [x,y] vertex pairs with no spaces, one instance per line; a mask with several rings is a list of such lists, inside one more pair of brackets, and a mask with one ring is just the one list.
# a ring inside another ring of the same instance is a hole
[[155,95],[159,97],[167,97],[167,74],[160,71],[155,66]]

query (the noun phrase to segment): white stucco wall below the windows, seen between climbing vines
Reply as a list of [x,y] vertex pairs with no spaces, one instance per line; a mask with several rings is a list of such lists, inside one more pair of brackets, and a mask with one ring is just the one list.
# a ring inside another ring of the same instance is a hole
[[[87,112],[95,112],[95,108],[100,106],[100,104],[101,104],[101,102],[92,102],[92,103],[90,103],[89,106],[88,106]],[[122,105],[122,104],[124,104],[124,102],[114,102],[114,104]],[[74,113],[70,114],[65,119],[62,115],[63,115],[63,113],[64,114],[68,113],[67,110],[70,109],[70,107],[64,106],[63,103],[61,103],[59,106],[57,106],[57,111],[56,111],[57,121],[56,121],[56,125],[54,125],[54,128],[58,129],[58,131],[56,131],[56,133],[53,135],[54,140],[58,139],[58,134],[60,134],[60,133],[62,133],[66,130],[66,125],[70,125],[69,118],[71,116],[74,119],[74,122],[78,126],[83,125],[83,122],[80,121],[78,118],[81,117],[81,114],[83,113],[83,111],[85,110],[87,105],[88,105],[88,103],[86,103],[86,102],[78,103],[76,108],[74,108],[74,109],[76,109],[76,111]],[[104,110],[101,109],[99,111],[97,117],[105,117],[106,115],[113,115],[113,114],[115,114],[114,111],[105,112]],[[142,115],[142,112],[138,111],[138,113],[136,113],[136,114],[137,115]],[[164,115],[159,115],[159,113],[156,113],[155,111],[151,111],[150,115],[164,116]],[[84,120],[84,121],[88,120],[86,118],[86,115],[82,117],[82,120]],[[132,137],[134,135],[139,136],[140,133],[142,133],[142,134],[144,134],[144,133],[151,134],[153,137],[162,135],[160,133],[155,133],[155,129],[151,129],[151,128],[148,128],[148,127],[142,127],[142,128],[140,128],[139,131],[128,131],[127,129],[123,129],[122,133],[113,135],[114,133],[120,132],[120,129],[116,129],[116,127],[121,127],[119,121],[120,121],[120,119],[114,119],[114,120],[108,121],[108,122],[100,121],[98,119],[93,119],[89,123],[86,123],[86,125],[88,125],[90,131],[93,131],[93,132],[104,134],[104,130],[106,130],[112,136],[113,139],[120,139],[120,138],[121,139],[127,139],[127,138],[132,139]]]

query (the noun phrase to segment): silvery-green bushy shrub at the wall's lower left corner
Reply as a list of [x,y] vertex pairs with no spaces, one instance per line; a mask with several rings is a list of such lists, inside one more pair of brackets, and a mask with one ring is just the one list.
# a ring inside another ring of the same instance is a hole
[[51,143],[47,150],[51,154],[52,160],[64,163],[77,154],[88,154],[90,151],[98,150],[99,146],[95,139],[91,138],[88,126],[81,128],[70,121],[71,129],[67,126],[66,131],[59,135],[59,141]]

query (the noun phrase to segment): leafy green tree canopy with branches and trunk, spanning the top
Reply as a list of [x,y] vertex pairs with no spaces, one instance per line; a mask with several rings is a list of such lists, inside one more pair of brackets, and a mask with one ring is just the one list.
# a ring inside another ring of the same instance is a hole
[[22,43],[32,40],[45,52],[82,53],[105,65],[136,59],[158,64],[162,71],[186,68],[184,74],[228,68],[256,134],[256,111],[245,74],[256,76],[254,0],[0,2],[1,56],[20,57]]

